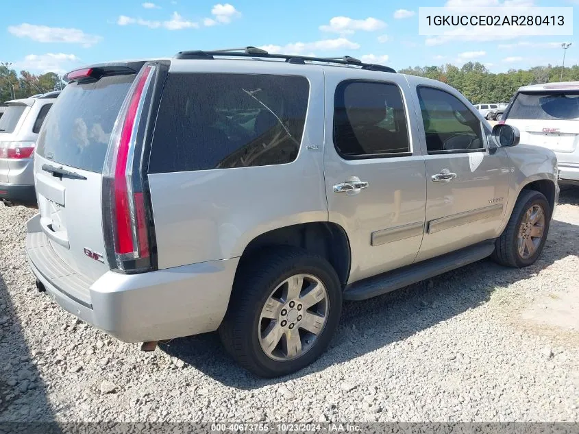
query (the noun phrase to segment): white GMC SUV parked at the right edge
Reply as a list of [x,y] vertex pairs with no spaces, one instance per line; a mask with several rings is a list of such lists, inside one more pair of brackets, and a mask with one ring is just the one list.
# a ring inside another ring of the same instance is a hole
[[521,131],[521,141],[547,147],[558,160],[560,184],[579,184],[579,82],[519,88],[505,122]]

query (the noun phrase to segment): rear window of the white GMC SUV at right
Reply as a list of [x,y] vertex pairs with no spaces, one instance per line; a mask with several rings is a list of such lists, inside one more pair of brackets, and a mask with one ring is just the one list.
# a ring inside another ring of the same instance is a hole
[[579,119],[579,92],[519,93],[509,119]]

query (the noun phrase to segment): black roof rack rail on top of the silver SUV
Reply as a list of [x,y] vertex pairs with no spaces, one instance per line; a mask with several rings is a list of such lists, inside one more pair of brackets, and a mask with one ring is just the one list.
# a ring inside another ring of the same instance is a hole
[[218,56],[284,59],[288,63],[295,63],[295,64],[305,64],[306,62],[325,62],[325,63],[345,64],[361,67],[361,69],[367,69],[368,71],[381,71],[389,73],[396,72],[391,67],[386,67],[385,65],[380,64],[363,63],[361,60],[352,58],[350,56],[343,56],[340,58],[318,58],[312,56],[299,56],[297,54],[275,54],[275,53],[268,53],[267,51],[256,47],[231,48],[214,51],[202,51],[202,50],[179,51],[177,54],[175,54],[174,58],[193,60],[193,59],[214,59],[215,57]]

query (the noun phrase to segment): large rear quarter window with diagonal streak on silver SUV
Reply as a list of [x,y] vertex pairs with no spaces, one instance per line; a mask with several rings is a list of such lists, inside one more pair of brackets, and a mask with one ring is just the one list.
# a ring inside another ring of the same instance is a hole
[[169,75],[149,172],[292,162],[304,132],[309,88],[305,77],[291,75]]

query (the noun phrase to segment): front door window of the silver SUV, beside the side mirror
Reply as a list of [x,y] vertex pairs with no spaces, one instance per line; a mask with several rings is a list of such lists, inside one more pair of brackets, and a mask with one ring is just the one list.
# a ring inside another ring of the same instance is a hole
[[428,154],[484,151],[480,121],[460,99],[426,86],[418,99]]

